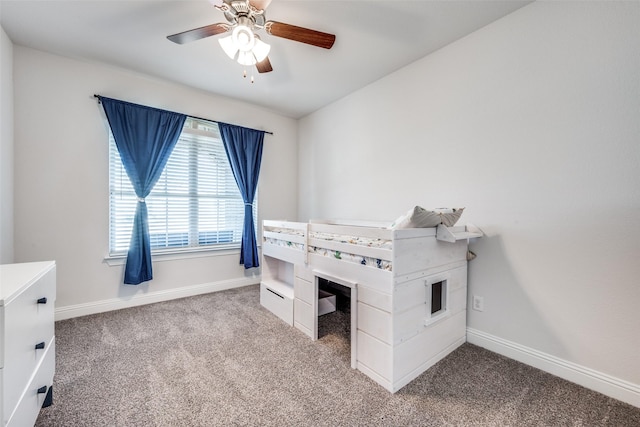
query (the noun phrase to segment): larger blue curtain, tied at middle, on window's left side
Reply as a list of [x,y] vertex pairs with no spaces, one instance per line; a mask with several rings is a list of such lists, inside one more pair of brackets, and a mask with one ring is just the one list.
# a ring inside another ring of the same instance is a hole
[[144,199],[160,178],[187,116],[102,96],[99,98],[122,164],[138,196],[124,271],[124,283],[138,285],[153,279]]

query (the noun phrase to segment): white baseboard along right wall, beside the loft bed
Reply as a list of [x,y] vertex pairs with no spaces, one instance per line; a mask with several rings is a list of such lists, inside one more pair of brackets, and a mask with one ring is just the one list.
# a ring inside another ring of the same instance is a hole
[[467,342],[640,408],[640,385],[467,328]]

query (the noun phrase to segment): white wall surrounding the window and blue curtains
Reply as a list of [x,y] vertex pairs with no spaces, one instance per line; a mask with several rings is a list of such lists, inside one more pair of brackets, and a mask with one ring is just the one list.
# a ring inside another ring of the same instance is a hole
[[[296,216],[295,120],[122,69],[20,46],[14,46],[14,66],[15,258],[56,260],[58,313],[151,302],[150,296],[181,296],[182,290],[199,285],[247,283],[239,251],[154,261],[153,281],[139,286],[122,284],[123,265],[103,262],[108,253],[108,134],[94,94],[274,132],[265,136],[259,213],[265,218]],[[257,283],[250,276],[248,280]]]

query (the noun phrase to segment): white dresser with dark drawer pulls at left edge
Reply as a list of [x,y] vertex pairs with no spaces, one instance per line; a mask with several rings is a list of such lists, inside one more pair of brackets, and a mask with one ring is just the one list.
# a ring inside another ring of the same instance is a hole
[[52,402],[54,261],[0,265],[0,426],[32,426]]

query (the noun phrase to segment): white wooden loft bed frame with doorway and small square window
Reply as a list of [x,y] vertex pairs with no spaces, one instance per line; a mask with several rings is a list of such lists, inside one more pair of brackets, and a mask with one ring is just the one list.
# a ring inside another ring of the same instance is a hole
[[[315,232],[390,240],[392,248],[317,239]],[[479,229],[264,221],[262,236],[261,304],[316,340],[318,278],[350,288],[351,366],[388,391],[395,393],[466,341],[468,239],[482,236]],[[390,261],[392,270],[309,252],[314,246]],[[442,291],[435,313],[433,286]]]

